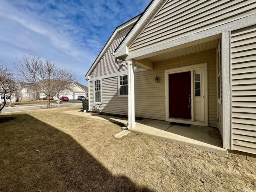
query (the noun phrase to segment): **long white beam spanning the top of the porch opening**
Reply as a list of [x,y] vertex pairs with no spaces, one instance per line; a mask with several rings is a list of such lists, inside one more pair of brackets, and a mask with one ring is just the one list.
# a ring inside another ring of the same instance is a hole
[[[256,14],[252,14],[250,16],[220,25],[216,26],[214,28],[210,28],[208,30],[204,30],[201,32],[197,32],[194,34],[190,34],[188,36],[184,36],[182,38],[172,40],[169,42],[165,42],[162,44],[158,44],[156,46],[153,46],[151,48],[146,48],[142,51],[134,52],[132,54],[129,54],[126,58],[126,60],[134,59],[134,60],[140,60],[152,56],[156,56],[158,54],[162,54],[168,51],[176,50],[178,48],[181,48],[180,46],[189,46],[194,44],[193,42],[201,40],[203,38],[212,38],[214,36],[220,36],[222,32],[226,31],[232,31],[237,30],[240,28],[244,28],[247,26],[251,26],[256,24]],[[221,37],[221,36],[220,36]],[[116,54],[115,54],[116,56]]]

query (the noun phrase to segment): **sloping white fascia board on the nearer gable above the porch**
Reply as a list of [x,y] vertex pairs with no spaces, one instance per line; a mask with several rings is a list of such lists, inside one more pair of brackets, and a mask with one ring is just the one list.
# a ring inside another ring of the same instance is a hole
[[140,28],[140,26],[142,26],[144,24],[144,22],[148,19],[148,17],[152,14],[152,12],[156,12],[156,7],[158,6],[158,4],[160,2],[162,2],[164,0],[154,0],[154,2],[152,2],[150,4],[150,6],[148,7],[148,9],[144,12],[144,14],[142,15],[142,17],[140,18],[140,20],[138,20],[138,22],[136,23],[136,25],[132,28],[132,30],[130,31],[130,33],[128,34],[128,36],[125,38],[125,40],[122,42],[122,44],[120,44],[119,48],[116,50],[115,52],[115,57],[121,57],[124,55],[128,55],[129,54],[129,49],[127,47],[128,42],[130,41],[130,39],[134,36],[134,34],[136,34],[136,32],[138,30],[142,30]]

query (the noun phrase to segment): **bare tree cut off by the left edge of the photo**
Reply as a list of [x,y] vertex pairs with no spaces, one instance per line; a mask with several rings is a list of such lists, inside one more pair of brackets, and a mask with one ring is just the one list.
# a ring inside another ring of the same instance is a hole
[[[1,61],[0,61],[1,63]],[[0,114],[7,103],[7,100],[12,100],[17,92],[17,85],[15,84],[14,73],[10,68],[0,64]]]

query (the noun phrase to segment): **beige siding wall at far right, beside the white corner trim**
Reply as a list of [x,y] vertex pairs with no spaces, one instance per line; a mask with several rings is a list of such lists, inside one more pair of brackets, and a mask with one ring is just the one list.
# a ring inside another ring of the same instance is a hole
[[256,154],[256,25],[231,32],[233,150]]

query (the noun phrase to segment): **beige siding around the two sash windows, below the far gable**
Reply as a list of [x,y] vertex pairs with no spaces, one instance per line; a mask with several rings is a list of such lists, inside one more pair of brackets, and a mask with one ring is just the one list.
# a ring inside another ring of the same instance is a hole
[[[90,82],[90,109],[93,108],[93,81]],[[102,79],[102,104],[100,112],[128,115],[128,98],[118,97],[117,77]]]

